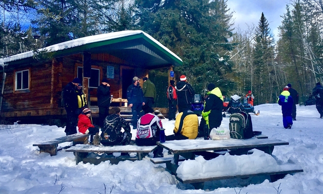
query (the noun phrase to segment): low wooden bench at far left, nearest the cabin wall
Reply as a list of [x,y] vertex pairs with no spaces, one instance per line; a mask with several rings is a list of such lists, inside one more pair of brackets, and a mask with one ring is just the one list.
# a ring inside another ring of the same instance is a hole
[[76,134],[67,135],[61,138],[56,138],[54,140],[33,144],[32,146],[38,146],[39,153],[48,152],[50,153],[50,156],[56,156],[58,144],[64,143],[64,142],[72,142],[72,141],[73,141],[73,145],[87,144],[88,136],[89,134],[76,133]]

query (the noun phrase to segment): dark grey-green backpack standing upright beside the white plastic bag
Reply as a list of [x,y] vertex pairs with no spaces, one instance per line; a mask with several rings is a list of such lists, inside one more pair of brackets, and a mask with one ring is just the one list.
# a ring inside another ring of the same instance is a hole
[[253,137],[251,117],[247,112],[237,112],[230,115],[230,137],[234,139],[250,139]]

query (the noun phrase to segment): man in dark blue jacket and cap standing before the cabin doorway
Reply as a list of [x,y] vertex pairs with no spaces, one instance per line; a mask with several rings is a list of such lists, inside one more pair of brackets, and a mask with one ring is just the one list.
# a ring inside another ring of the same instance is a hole
[[132,127],[137,129],[138,115],[139,118],[145,113],[142,106],[145,105],[144,93],[142,87],[139,86],[139,78],[133,77],[132,84],[127,89],[127,100],[132,112]]

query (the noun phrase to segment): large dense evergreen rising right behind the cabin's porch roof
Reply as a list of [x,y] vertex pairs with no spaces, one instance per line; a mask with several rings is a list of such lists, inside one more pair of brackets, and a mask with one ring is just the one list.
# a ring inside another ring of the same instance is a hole
[[226,1],[136,0],[135,5],[138,27],[181,57],[183,66],[174,70],[189,77],[196,93],[211,82],[224,91],[232,86],[225,76],[233,47]]

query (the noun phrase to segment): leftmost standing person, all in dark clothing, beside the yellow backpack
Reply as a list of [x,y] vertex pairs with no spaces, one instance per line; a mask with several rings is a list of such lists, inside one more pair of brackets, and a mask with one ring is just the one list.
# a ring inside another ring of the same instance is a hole
[[62,98],[67,118],[67,124],[65,127],[66,135],[77,133],[78,102],[75,90],[80,83],[80,80],[76,77],[72,82],[68,83],[62,91]]

